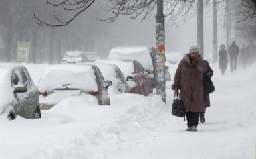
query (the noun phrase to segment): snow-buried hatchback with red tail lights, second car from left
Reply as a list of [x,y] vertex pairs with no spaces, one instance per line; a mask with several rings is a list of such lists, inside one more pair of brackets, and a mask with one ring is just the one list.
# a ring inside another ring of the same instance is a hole
[[41,109],[50,109],[63,99],[82,94],[93,95],[99,105],[110,105],[108,87],[100,69],[92,64],[56,64],[45,68],[39,81]]

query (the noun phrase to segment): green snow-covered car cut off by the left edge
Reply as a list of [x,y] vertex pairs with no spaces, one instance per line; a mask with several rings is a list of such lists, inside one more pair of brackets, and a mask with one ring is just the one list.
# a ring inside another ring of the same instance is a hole
[[16,115],[40,118],[39,92],[25,66],[0,64],[0,114],[9,119]]

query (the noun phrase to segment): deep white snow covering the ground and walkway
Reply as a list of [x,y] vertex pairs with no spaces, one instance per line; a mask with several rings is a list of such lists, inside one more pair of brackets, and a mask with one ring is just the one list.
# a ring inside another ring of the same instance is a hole
[[[46,65],[26,64],[35,83]],[[110,106],[90,95],[70,97],[41,119],[0,116],[1,159],[253,159],[256,145],[256,64],[221,76],[211,64],[216,91],[205,123],[187,132],[171,115],[174,91],[166,83],[166,104],[154,94],[121,94]],[[170,68],[172,79],[176,65]]]

